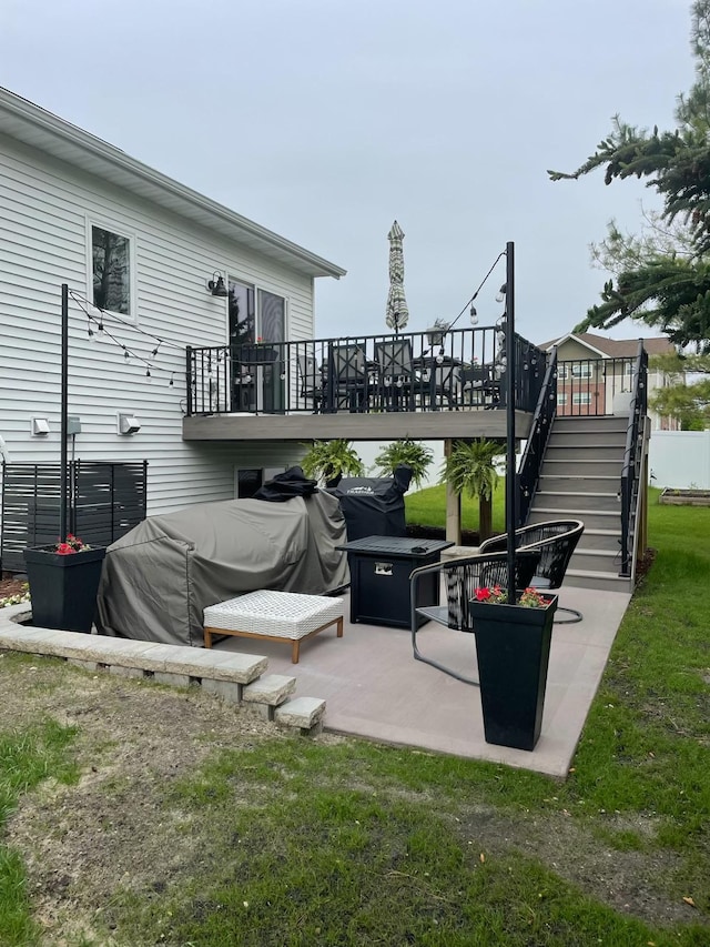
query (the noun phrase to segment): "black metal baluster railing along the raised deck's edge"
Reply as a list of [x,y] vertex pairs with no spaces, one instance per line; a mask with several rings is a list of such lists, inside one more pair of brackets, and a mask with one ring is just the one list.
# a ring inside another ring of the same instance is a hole
[[[546,355],[516,346],[516,407],[532,412]],[[505,406],[506,361],[496,326],[189,347],[186,413],[490,410]]]

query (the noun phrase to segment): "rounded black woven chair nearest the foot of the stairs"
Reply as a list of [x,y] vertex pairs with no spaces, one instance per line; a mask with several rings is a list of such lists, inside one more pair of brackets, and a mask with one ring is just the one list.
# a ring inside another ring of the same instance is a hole
[[[545,523],[531,523],[515,531],[515,544],[518,552],[523,550],[538,550],[540,564],[535,572],[534,588],[559,588],[565,580],[567,566],[572,553],[585,532],[585,524],[580,520],[548,520]],[[505,533],[485,540],[479,546],[481,555],[506,550],[508,538]],[[570,618],[557,617],[560,612],[571,615]],[[576,608],[560,608],[558,606],[555,624],[571,625],[581,622],[582,614]]]

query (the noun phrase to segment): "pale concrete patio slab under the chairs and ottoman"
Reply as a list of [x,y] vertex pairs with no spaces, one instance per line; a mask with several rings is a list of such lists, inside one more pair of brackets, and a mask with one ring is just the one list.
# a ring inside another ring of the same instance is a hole
[[[325,698],[326,729],[564,778],[629,601],[623,593],[560,590],[560,606],[579,609],[584,621],[555,625],[542,733],[531,753],[486,743],[478,688],[415,661],[408,631],[351,624],[347,595],[344,636],[333,628],[304,642],[298,664],[276,642],[232,637],[215,648],[266,655],[270,673],[297,678],[296,694]],[[476,676],[473,635],[429,623],[418,642],[427,656]]]

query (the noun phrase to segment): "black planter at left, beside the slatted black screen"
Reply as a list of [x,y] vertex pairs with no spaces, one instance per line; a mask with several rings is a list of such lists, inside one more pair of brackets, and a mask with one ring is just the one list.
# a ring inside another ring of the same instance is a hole
[[91,632],[105,548],[59,555],[53,547],[24,550],[32,624]]

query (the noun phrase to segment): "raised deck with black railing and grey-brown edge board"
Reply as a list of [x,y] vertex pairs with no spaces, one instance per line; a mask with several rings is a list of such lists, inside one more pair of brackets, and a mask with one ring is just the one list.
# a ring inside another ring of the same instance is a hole
[[[545,353],[515,338],[520,436]],[[505,335],[496,326],[189,349],[185,440],[506,434]]]

